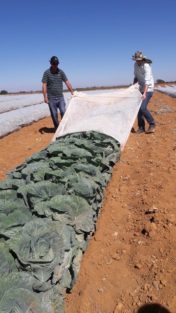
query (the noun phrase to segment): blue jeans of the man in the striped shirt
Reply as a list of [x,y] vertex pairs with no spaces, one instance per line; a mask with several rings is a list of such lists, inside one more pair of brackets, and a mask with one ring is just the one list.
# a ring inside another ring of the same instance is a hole
[[54,127],[57,129],[59,126],[58,109],[61,113],[61,119],[63,118],[66,112],[66,103],[64,100],[64,96],[57,97],[57,98],[50,98],[48,105],[49,105],[49,110],[51,113]]

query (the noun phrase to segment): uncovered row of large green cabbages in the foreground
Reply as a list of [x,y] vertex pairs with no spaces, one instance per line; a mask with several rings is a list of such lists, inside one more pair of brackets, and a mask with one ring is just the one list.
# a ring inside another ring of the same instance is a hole
[[108,135],[67,134],[0,182],[0,312],[63,312],[119,159]]

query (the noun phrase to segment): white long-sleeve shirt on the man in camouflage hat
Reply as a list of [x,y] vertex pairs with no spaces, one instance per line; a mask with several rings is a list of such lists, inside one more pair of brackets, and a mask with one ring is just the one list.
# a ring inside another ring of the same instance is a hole
[[137,62],[135,62],[134,77],[137,78],[138,84],[141,86],[141,92],[144,92],[145,85],[149,85],[147,92],[154,91],[154,78],[149,63],[143,61],[140,67],[138,67]]

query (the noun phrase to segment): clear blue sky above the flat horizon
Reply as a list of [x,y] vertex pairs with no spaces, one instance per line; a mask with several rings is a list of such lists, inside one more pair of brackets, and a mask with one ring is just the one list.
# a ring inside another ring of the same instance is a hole
[[74,89],[131,84],[137,50],[176,80],[176,0],[1,1],[0,90],[42,90],[53,55]]

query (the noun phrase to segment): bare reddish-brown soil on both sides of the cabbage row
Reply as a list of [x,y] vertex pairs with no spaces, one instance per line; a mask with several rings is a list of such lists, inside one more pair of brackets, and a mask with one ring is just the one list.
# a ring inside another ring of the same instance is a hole
[[[136,313],[154,302],[176,312],[176,98],[154,91],[149,110],[157,127],[132,129],[66,313]],[[0,180],[53,135],[48,117],[0,139]]]

